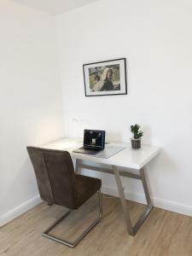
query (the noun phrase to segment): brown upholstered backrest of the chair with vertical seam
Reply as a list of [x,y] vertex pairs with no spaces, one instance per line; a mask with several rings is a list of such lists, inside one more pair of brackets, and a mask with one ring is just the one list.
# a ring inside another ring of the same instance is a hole
[[73,207],[76,198],[73,161],[67,151],[27,147],[41,198]]

